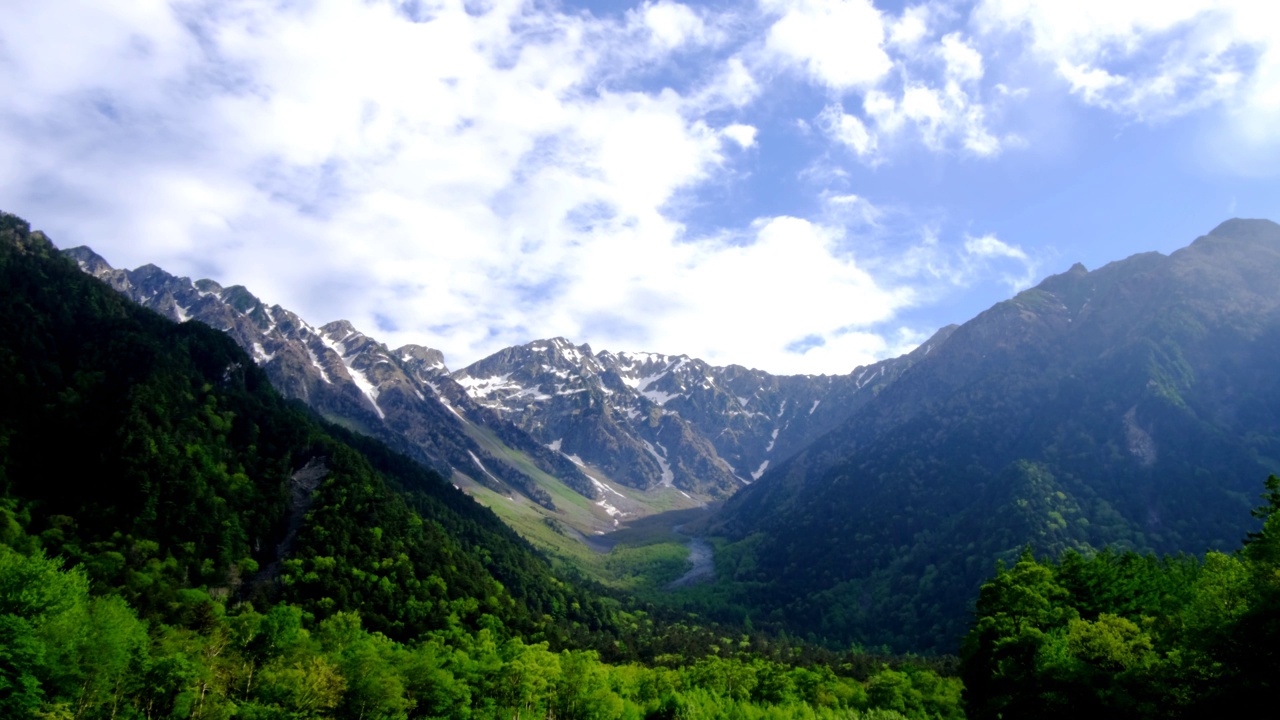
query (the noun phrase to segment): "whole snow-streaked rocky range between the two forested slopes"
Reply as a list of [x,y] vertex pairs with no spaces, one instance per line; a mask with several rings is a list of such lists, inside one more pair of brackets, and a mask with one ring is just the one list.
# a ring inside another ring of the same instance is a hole
[[[686,505],[732,495],[847,419],[952,329],[849,375],[595,354],[564,338],[509,347],[451,373],[438,350],[392,350],[346,320],[312,327],[242,286],[192,282],[155,265],[115,269],[88,247],[64,254],[140,305],[227,332],[280,392],[325,418],[447,475],[518,492],[584,530],[680,506],[659,497],[655,507],[654,497],[620,495],[609,483],[669,488]],[[594,501],[585,521],[580,510],[557,506],[549,478]]]

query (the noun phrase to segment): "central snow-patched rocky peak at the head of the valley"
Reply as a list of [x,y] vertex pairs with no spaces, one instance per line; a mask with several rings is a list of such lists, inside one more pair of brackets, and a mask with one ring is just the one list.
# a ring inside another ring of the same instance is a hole
[[849,375],[780,377],[552,338],[508,347],[453,378],[539,442],[620,483],[724,497],[856,413],[951,329]]

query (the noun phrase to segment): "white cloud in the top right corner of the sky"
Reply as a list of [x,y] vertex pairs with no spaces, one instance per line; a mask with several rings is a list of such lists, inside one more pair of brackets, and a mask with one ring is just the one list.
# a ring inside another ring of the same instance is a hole
[[1280,9],[1258,0],[982,0],[975,32],[1014,37],[1082,102],[1126,120],[1208,113],[1202,161],[1231,173],[1280,167]]

